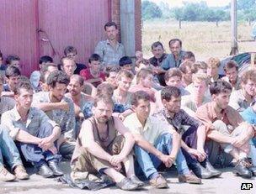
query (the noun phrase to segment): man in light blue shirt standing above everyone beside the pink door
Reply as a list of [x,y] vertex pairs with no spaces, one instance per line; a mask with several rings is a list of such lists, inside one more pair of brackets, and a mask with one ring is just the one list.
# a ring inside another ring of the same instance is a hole
[[108,22],[104,25],[104,30],[108,39],[100,41],[94,53],[103,60],[104,67],[119,66],[120,58],[125,56],[125,47],[117,41],[117,25],[115,22]]

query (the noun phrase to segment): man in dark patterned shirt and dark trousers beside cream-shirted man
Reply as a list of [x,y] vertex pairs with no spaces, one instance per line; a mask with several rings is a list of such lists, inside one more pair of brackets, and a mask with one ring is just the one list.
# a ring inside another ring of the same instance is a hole
[[152,116],[173,125],[175,130],[182,134],[181,147],[189,168],[200,178],[221,176],[221,172],[211,166],[205,153],[205,125],[180,109],[181,92],[179,88],[170,86],[163,88],[161,98],[163,109]]

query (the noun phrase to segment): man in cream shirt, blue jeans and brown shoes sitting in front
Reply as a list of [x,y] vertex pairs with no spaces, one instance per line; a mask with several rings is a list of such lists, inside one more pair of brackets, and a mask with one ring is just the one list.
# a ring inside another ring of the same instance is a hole
[[200,184],[201,180],[189,171],[180,149],[180,135],[172,125],[149,116],[150,97],[146,92],[135,92],[131,96],[131,105],[135,110],[125,118],[125,127],[129,128],[136,140],[135,154],[141,170],[152,186],[168,187],[167,181],[157,172],[163,163],[167,168],[176,162],[179,182]]

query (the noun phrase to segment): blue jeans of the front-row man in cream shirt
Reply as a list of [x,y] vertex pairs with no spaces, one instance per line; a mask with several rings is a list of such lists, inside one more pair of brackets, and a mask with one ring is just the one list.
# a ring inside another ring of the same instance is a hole
[[[169,155],[172,150],[173,139],[172,134],[162,134],[160,135],[154,147],[161,151],[164,155]],[[157,173],[157,167],[161,165],[162,161],[157,158],[156,155],[152,155],[148,153],[146,150],[142,149],[140,146],[135,145],[134,147],[136,160],[141,167],[144,175],[149,178],[154,173]],[[179,149],[178,155],[176,157],[176,165],[179,175],[187,175],[189,174],[189,167],[186,163],[184,155]]]

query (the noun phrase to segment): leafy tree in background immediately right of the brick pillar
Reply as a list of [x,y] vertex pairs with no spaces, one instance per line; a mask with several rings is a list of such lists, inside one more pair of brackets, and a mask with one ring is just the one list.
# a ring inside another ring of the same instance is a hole
[[141,13],[142,20],[161,18],[163,15],[162,10],[157,6],[157,4],[149,1],[142,2]]

